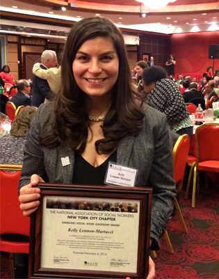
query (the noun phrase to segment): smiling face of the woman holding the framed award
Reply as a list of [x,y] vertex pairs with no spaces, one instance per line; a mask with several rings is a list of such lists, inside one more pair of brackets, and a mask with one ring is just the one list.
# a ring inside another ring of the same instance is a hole
[[74,79],[90,97],[111,94],[119,73],[119,59],[108,38],[87,40],[72,63]]

